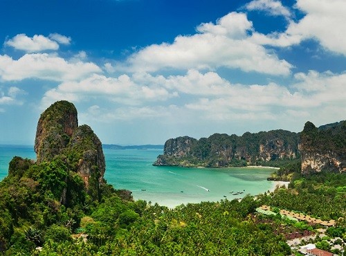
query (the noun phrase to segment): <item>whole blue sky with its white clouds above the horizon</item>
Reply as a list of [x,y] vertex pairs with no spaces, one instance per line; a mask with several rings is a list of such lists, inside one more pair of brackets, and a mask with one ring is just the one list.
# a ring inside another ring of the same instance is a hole
[[0,143],[78,109],[102,143],[345,120],[343,0],[0,1]]

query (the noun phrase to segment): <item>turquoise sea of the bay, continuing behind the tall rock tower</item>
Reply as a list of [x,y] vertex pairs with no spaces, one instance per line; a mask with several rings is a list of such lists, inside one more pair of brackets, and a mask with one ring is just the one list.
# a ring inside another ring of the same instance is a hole
[[[156,167],[158,149],[104,149],[107,183],[133,192],[143,199],[174,207],[181,203],[220,201],[260,194],[273,188],[266,177],[268,168],[183,168]],[[33,146],[0,145],[0,180],[8,174],[13,156],[35,159]],[[237,195],[233,195],[240,192]]]

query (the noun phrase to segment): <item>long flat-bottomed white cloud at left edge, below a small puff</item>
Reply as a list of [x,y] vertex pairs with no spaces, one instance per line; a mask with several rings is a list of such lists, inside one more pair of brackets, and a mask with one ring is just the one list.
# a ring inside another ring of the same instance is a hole
[[30,53],[13,60],[8,55],[0,55],[0,79],[20,81],[28,78],[67,81],[81,80],[91,73],[102,70],[92,62],[68,62],[62,57],[48,53]]

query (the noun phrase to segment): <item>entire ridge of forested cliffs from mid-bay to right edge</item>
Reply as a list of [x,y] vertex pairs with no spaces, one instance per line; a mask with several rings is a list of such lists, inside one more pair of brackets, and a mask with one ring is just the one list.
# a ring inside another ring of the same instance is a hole
[[153,165],[183,167],[282,166],[300,161],[301,172],[346,171],[346,121],[316,127],[312,122],[295,133],[282,129],[242,136],[213,134],[199,140],[170,138]]

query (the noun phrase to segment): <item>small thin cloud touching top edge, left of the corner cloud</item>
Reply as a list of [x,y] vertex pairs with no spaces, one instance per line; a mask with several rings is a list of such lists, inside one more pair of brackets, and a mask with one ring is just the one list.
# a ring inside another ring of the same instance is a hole
[[282,6],[281,1],[277,0],[254,0],[246,4],[247,10],[261,10],[273,16],[291,17],[288,8]]

